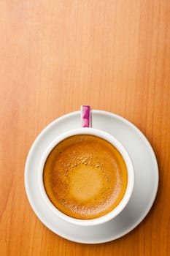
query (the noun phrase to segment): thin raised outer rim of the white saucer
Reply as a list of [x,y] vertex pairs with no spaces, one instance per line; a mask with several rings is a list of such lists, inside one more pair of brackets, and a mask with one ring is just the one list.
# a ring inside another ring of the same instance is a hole
[[[80,243],[80,244],[103,244],[103,243],[107,243],[109,241],[114,241],[115,239],[121,238],[122,236],[125,236],[126,234],[131,232],[131,230],[134,230],[134,228],[137,225],[139,225],[142,222],[142,220],[147,216],[147,214],[150,211],[150,208],[152,208],[152,205],[155,201],[155,197],[156,197],[157,192],[158,192],[158,183],[159,183],[158,162],[157,162],[157,159],[156,159],[156,156],[155,156],[155,152],[154,152],[149,140],[147,140],[147,138],[144,136],[142,131],[139,128],[137,128],[133,123],[131,123],[131,121],[128,121],[126,118],[124,118],[122,116],[119,116],[115,113],[111,113],[111,112],[108,112],[108,111],[105,111],[105,110],[91,110],[91,111],[92,111],[92,114],[96,113],[96,114],[102,114],[104,116],[110,116],[112,118],[118,119],[119,121],[123,121],[123,123],[128,124],[129,127],[136,130],[136,132],[138,133],[138,135],[140,135],[142,140],[144,140],[144,142],[147,143],[147,147],[150,148],[150,153],[152,154],[152,159],[154,160],[153,162],[154,162],[154,165],[155,165],[154,166],[154,170],[155,170],[155,186],[154,186],[154,188],[155,189],[152,189],[153,190],[152,197],[150,198],[150,203],[148,203],[148,206],[146,208],[144,208],[144,214],[142,214],[142,216],[139,217],[139,219],[137,219],[136,222],[134,222],[134,225],[131,225],[131,227],[129,227],[128,229],[126,228],[124,232],[119,233],[117,236],[114,236],[114,238],[110,238],[110,239],[108,239],[108,238],[104,239],[103,238],[103,239],[98,240],[98,241],[96,241],[96,240],[90,240],[90,241],[89,240],[82,240],[82,239],[79,239],[79,238],[75,239],[75,238],[72,238],[72,236],[61,233],[60,231],[56,232],[55,228],[53,228],[53,225],[49,225],[47,223],[47,220],[44,217],[42,217],[41,214],[39,214],[39,211],[36,209],[36,205],[34,204],[34,200],[32,200],[31,195],[29,195],[28,165],[29,165],[29,162],[31,161],[31,154],[32,154],[32,151],[34,151],[34,147],[39,142],[39,140],[41,140],[41,138],[43,137],[43,135],[47,131],[47,129],[52,128],[56,123],[58,123],[58,121],[62,121],[62,120],[66,119],[66,118],[69,118],[69,117],[77,116],[77,114],[80,113],[80,110],[77,110],[77,111],[74,111],[74,112],[71,112],[71,113],[66,113],[63,116],[60,116],[60,117],[56,118],[54,121],[50,122],[50,124],[47,124],[47,126],[44,129],[42,129],[42,131],[39,133],[39,135],[36,136],[36,138],[34,140],[34,143],[32,143],[31,148],[28,151],[28,156],[26,157],[24,182],[25,182],[25,189],[26,189],[26,195],[28,197],[28,202],[30,203],[31,208],[33,209],[34,213],[36,214],[36,217],[38,217],[39,220],[46,227],[48,227],[51,231],[53,231],[53,233],[57,234],[58,236],[61,236],[62,238],[66,238],[69,241],[74,241],[74,242],[77,242],[77,243]],[[103,223],[101,225],[104,225],[104,224],[105,223]],[[95,226],[93,228],[95,228]]]

